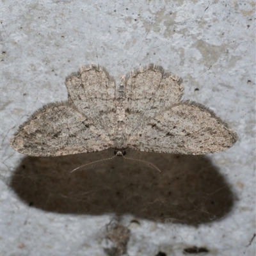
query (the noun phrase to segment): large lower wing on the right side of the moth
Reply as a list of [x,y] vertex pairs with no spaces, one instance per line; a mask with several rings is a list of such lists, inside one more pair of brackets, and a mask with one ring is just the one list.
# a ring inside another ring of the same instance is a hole
[[195,102],[177,106],[152,118],[133,134],[128,147],[172,154],[209,154],[232,147],[236,132],[210,109]]

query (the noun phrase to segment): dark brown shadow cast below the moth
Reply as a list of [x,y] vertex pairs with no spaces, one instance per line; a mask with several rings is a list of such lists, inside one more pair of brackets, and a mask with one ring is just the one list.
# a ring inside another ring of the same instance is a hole
[[95,169],[77,166],[112,156],[113,150],[61,157],[25,157],[10,180],[26,204],[62,214],[117,215],[198,225],[223,218],[234,196],[207,156],[155,154],[127,150]]

